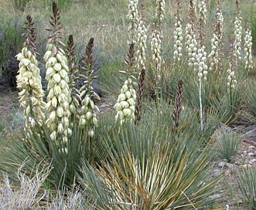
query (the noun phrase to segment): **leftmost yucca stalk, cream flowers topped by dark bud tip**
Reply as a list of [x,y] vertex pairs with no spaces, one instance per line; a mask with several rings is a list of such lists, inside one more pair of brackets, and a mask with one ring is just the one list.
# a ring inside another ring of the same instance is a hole
[[17,79],[17,88],[19,92],[19,103],[23,108],[24,117],[26,117],[26,129],[35,127],[36,122],[43,123],[45,114],[43,109],[45,103],[43,102],[43,89],[41,83],[40,69],[38,68],[38,61],[36,60],[36,32],[32,16],[27,15],[26,26],[27,30],[24,34],[26,42],[23,44],[22,52],[16,56],[19,60],[19,70]]

